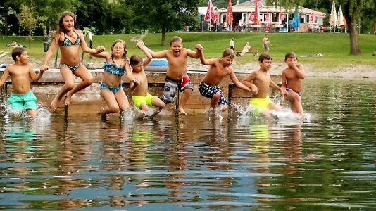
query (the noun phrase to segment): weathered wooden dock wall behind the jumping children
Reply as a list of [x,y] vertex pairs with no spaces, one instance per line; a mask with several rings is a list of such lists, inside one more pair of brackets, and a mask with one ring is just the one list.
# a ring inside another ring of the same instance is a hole
[[[35,70],[36,72],[39,70]],[[0,69],[0,76],[3,74],[4,68]],[[94,77],[94,83],[87,87],[86,89],[79,91],[75,94],[72,98],[72,103],[70,106],[64,106],[63,101],[58,107],[57,112],[65,113],[68,115],[75,115],[75,114],[96,114],[99,112],[99,109],[102,106],[106,106],[106,103],[101,98],[99,94],[100,86],[99,81],[102,78],[103,70],[102,69],[94,69],[90,70]],[[184,110],[188,114],[197,114],[197,113],[204,113],[208,108],[210,108],[210,99],[201,96],[198,86],[203,79],[206,72],[202,71],[188,71],[188,75],[194,84],[194,91],[192,96],[189,98],[187,105],[184,107]],[[241,81],[244,77],[249,74],[244,73],[236,73],[238,79]],[[165,72],[146,72],[146,76],[149,82],[149,93],[161,96],[163,94],[163,86],[165,84]],[[129,92],[129,80],[127,77],[123,77],[124,84],[123,89],[125,94],[128,96],[128,100],[130,101],[131,106],[132,100],[130,98]],[[277,84],[280,84],[280,75],[272,75],[272,80],[275,81]],[[80,82],[78,77],[75,77],[75,82]],[[58,69],[50,69],[44,72],[42,79],[39,82],[32,82],[32,91],[34,92],[35,96],[38,98],[38,105],[44,108],[49,108],[49,105],[56,96],[58,90],[64,84],[63,78],[61,77],[60,71]],[[225,98],[229,102],[229,108],[231,109],[232,103],[237,105],[245,106],[248,104],[249,98],[251,94],[249,91],[244,91],[234,86],[230,77],[223,79],[221,82],[220,87],[223,90],[223,94]],[[4,84],[1,91],[1,101],[4,101],[12,91],[12,85],[10,79]],[[175,103],[168,104],[165,110],[168,110],[171,113],[177,113],[178,103],[180,101],[180,96],[182,93],[178,93],[175,96]]]

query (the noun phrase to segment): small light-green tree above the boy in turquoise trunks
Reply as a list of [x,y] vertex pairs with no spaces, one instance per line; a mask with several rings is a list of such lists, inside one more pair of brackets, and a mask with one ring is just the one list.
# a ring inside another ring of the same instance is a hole
[[20,27],[24,28],[28,33],[27,41],[29,42],[30,48],[30,43],[32,41],[32,32],[37,27],[37,19],[34,17],[32,8],[28,6],[21,6],[21,12],[17,14],[17,19],[18,23],[20,23]]

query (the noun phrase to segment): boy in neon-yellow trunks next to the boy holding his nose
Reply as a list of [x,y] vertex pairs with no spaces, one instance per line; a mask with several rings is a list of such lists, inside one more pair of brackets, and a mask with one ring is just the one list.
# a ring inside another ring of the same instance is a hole
[[252,98],[249,104],[256,108],[258,113],[265,117],[270,117],[270,110],[280,111],[280,107],[273,103],[269,96],[269,87],[280,90],[281,94],[287,95],[287,91],[278,87],[270,79],[270,68],[272,68],[272,57],[268,53],[263,53],[258,57],[260,69],[255,70],[251,75],[242,80],[242,83],[252,89]]

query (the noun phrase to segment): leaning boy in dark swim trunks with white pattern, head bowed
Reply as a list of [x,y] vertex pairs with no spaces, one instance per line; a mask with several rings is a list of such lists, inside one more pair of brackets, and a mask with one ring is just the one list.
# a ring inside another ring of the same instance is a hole
[[199,52],[201,63],[203,65],[210,65],[208,72],[199,85],[200,94],[211,99],[211,108],[213,110],[218,108],[222,112],[225,112],[227,111],[227,101],[219,86],[220,82],[225,77],[230,76],[232,82],[240,89],[251,91],[249,87],[239,82],[234,70],[230,67],[234,61],[235,53],[232,49],[225,49],[222,53],[222,57],[206,59],[203,56],[202,46],[196,45],[196,49]]

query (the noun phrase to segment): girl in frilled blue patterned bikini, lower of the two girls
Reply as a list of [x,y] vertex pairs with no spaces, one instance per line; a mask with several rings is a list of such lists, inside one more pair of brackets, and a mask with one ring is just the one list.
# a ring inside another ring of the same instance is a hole
[[104,73],[101,82],[101,96],[107,106],[101,108],[100,113],[105,116],[108,113],[118,113],[120,110],[129,110],[130,103],[123,89],[122,77],[130,75],[130,65],[127,60],[125,41],[117,39],[113,41],[111,52],[90,53],[91,56],[104,58]]

